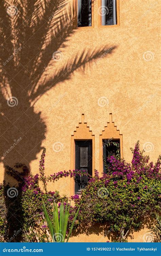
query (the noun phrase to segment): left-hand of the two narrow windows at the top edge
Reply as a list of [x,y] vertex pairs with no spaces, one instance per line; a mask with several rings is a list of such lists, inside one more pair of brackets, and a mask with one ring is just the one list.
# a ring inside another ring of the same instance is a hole
[[78,27],[92,26],[92,0],[78,0]]

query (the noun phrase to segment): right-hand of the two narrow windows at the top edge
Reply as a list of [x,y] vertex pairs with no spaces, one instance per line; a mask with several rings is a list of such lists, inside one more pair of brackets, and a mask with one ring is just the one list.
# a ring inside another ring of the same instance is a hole
[[100,15],[102,26],[117,25],[117,2],[116,0],[102,0]]

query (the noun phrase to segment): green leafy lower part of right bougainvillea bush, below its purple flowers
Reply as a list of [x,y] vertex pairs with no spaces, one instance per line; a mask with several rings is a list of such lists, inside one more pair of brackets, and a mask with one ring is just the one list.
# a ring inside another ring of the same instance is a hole
[[108,185],[104,179],[95,179],[82,193],[78,221],[108,222],[110,229],[117,232],[117,240],[125,241],[129,232],[138,230],[151,212],[159,211],[160,186],[159,180],[148,179],[146,175],[140,183],[136,177],[130,183],[127,179],[117,183],[110,179]]

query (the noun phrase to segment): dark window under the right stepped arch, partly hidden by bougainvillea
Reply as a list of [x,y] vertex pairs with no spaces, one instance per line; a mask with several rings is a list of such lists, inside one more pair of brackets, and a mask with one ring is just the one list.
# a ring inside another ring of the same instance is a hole
[[120,139],[103,140],[103,170],[106,173],[106,166],[108,166],[108,157],[115,156],[120,158]]

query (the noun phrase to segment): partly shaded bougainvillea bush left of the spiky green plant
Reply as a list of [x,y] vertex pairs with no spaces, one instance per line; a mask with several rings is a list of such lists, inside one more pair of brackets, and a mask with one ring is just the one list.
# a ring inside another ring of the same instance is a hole
[[[1,184],[0,201],[3,200],[0,213],[0,241],[6,242],[46,242],[50,241],[44,221],[42,202],[48,211],[52,210],[51,202],[59,202],[58,191],[43,193],[40,189],[39,176],[29,175],[19,186],[10,188]],[[11,189],[11,190],[10,190]],[[17,193],[10,193],[8,191]]]

